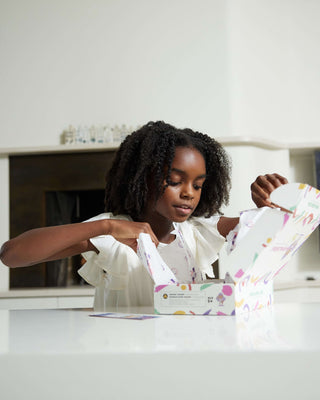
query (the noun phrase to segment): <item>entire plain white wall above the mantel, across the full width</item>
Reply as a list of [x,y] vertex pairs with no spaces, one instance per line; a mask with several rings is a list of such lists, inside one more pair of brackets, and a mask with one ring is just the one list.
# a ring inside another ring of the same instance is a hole
[[2,0],[0,147],[164,119],[318,139],[318,0]]

